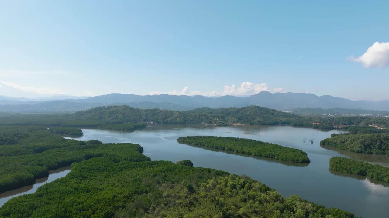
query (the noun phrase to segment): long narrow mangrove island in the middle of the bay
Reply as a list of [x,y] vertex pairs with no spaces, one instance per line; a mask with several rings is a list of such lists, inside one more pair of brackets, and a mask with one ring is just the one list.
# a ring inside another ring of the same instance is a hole
[[217,137],[217,136],[187,136],[177,138],[179,143],[220,149],[224,151],[268,157],[293,163],[309,163],[307,153],[294,149],[261,142],[248,138]]

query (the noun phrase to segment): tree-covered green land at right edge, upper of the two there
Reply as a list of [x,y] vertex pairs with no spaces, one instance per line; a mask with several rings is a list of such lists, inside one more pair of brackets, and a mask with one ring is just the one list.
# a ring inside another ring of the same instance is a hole
[[332,134],[320,145],[359,153],[389,155],[389,133]]

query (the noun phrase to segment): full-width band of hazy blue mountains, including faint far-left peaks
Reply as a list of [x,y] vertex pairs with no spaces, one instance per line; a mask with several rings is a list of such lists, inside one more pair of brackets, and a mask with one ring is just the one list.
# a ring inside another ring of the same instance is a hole
[[[68,99],[67,99],[68,98]],[[81,97],[82,98],[82,97]],[[0,111],[8,112],[73,112],[103,105],[128,105],[144,109],[171,109],[186,111],[199,107],[245,107],[250,105],[268,107],[280,111],[296,108],[345,108],[389,111],[389,100],[349,100],[330,95],[317,96],[310,93],[259,92],[248,97],[201,95],[133,95],[111,93],[85,99],[62,96],[65,100],[39,100],[0,96]]]

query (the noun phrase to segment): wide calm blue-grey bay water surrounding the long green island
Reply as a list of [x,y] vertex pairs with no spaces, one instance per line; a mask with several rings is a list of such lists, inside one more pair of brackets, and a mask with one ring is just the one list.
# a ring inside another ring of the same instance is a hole
[[[320,131],[291,126],[204,128],[200,125],[160,125],[148,126],[134,132],[96,129],[82,131],[84,136],[78,140],[136,143],[142,145],[144,154],[152,160],[177,162],[189,159],[195,166],[249,175],[286,197],[296,194],[327,208],[345,209],[365,218],[389,217],[389,183],[328,169],[329,159],[334,156],[350,157],[389,167],[389,156],[354,153],[319,145],[320,140],[330,137],[332,133],[340,133],[341,130]],[[177,143],[178,137],[192,135],[251,138],[298,148],[308,153],[311,163],[287,163]],[[310,144],[309,140],[313,140],[314,144]]]

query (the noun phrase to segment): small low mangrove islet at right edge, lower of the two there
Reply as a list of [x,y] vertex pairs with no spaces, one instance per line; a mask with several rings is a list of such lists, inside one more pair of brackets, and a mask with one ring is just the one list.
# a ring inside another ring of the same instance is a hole
[[363,175],[373,180],[389,182],[389,168],[345,157],[329,159],[329,169],[342,173]]

